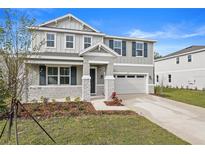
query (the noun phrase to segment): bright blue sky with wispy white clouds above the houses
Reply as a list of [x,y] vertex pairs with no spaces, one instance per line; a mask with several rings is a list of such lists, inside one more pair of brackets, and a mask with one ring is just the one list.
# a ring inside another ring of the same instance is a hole
[[[71,13],[108,35],[157,40],[161,55],[191,45],[205,45],[205,9],[17,9],[36,24]],[[3,9],[0,9],[0,14]],[[0,22],[3,22],[0,16]]]

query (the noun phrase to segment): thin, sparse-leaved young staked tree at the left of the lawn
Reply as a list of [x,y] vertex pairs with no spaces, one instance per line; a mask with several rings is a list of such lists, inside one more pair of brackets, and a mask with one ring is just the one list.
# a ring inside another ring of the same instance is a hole
[[[32,39],[36,34],[34,30],[29,30],[35,23],[34,18],[30,18],[25,12],[14,11],[10,9],[4,10],[4,23],[0,25],[0,69],[2,70],[2,84],[4,90],[10,96],[9,111],[9,130],[8,138],[11,135],[11,126],[13,118],[15,120],[16,143],[18,144],[17,132],[17,112],[18,102],[20,102],[27,79],[27,58],[40,50],[35,46],[35,50],[31,49]],[[38,50],[37,50],[38,49]],[[4,97],[2,96],[2,99]]]

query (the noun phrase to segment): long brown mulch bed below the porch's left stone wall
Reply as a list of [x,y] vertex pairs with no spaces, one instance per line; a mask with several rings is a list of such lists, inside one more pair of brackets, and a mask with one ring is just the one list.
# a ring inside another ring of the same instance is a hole
[[[34,117],[49,118],[60,116],[82,116],[82,115],[105,115],[120,114],[132,115],[133,111],[96,111],[90,102],[56,102],[56,103],[32,103],[23,104],[26,110]],[[19,113],[20,118],[29,118],[25,110]]]

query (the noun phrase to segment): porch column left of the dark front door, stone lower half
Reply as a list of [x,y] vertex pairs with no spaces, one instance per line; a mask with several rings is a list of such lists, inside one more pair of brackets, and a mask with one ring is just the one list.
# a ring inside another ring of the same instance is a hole
[[90,64],[87,60],[83,61],[82,76],[82,100],[90,101]]

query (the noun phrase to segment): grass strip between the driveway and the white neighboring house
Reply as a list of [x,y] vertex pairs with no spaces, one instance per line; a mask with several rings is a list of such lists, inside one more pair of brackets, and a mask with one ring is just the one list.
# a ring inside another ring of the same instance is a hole
[[191,105],[205,107],[205,91],[163,88],[162,97]]

